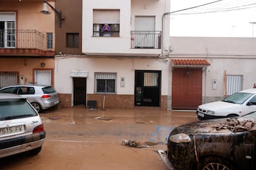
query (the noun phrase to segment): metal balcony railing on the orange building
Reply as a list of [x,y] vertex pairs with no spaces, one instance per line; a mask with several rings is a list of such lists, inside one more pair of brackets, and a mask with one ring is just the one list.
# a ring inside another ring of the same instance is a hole
[[0,30],[0,48],[43,50],[44,37],[37,30]]

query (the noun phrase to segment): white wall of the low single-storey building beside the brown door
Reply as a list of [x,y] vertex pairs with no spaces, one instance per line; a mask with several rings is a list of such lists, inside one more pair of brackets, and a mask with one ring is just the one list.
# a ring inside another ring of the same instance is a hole
[[[242,89],[252,88],[256,82],[255,38],[171,37],[170,42],[173,47],[170,58],[210,62],[203,75],[203,96],[206,98],[225,95],[225,73],[242,75]],[[216,90],[212,89],[213,80],[217,80]]]

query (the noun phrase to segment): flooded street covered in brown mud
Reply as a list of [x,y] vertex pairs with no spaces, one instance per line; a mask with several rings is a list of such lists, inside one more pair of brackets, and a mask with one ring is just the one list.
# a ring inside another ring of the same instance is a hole
[[[158,149],[166,150],[172,128],[196,121],[195,112],[159,109],[55,108],[41,113],[46,141],[36,156],[0,159],[0,169],[163,169]],[[154,145],[137,148],[122,140]]]

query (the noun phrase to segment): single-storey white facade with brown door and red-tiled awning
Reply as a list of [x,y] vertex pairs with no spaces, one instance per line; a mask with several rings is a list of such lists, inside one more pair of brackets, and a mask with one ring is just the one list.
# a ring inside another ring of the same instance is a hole
[[[190,108],[191,98],[198,104],[220,101],[256,83],[255,38],[171,37],[170,40],[172,109]],[[195,61],[206,67],[197,70]],[[201,94],[196,95],[198,92]]]

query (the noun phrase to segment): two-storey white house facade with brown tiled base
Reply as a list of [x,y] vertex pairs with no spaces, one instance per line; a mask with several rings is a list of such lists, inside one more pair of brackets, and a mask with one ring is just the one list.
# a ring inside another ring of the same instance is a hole
[[166,109],[169,9],[169,0],[82,1],[82,55],[55,56],[63,106]]

